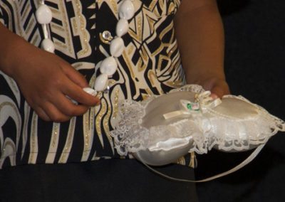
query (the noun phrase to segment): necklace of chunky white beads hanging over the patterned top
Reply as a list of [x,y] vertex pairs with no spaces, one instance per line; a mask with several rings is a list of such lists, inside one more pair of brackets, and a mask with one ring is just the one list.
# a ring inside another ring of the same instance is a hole
[[[128,33],[129,23],[128,20],[133,18],[135,14],[135,6],[132,2],[133,0],[124,0],[120,4],[119,8],[119,21],[116,25],[116,35],[112,41],[110,41],[110,57],[105,58],[100,62],[100,75],[95,80],[94,89],[90,87],[85,87],[83,90],[88,92],[90,95],[97,95],[97,92],[103,91],[108,87],[108,78],[110,78],[118,68],[118,63],[115,58],[122,55],[123,50],[125,49],[123,35]],[[36,10],[36,20],[43,26],[44,39],[41,43],[41,48],[44,50],[53,53],[55,46],[53,41],[48,36],[47,24],[51,23],[53,16],[51,9],[44,4],[44,1],[41,1],[41,6]],[[115,58],[114,58],[115,57]]]

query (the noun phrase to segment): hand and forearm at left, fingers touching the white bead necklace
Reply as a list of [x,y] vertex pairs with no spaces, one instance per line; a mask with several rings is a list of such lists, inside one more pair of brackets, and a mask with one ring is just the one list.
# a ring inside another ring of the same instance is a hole
[[83,91],[88,83],[71,65],[27,43],[1,23],[0,53],[0,70],[16,80],[28,104],[46,121],[63,122],[83,115],[99,102]]

